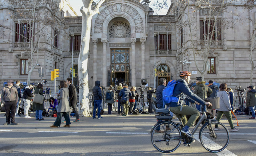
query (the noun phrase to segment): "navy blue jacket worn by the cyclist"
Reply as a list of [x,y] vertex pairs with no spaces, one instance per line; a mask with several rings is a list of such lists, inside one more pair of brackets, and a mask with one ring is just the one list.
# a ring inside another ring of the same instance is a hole
[[[200,104],[205,104],[205,101],[203,99],[201,99],[200,97],[198,97],[197,95],[195,95],[190,91],[190,89],[188,88],[188,84],[183,79],[177,80],[177,84],[174,87],[172,96],[179,97],[180,93],[186,94],[189,97],[189,98],[187,97],[186,100],[188,100],[191,103],[194,103],[196,101]],[[171,102],[169,106],[177,107],[179,105],[178,105],[178,102]]]

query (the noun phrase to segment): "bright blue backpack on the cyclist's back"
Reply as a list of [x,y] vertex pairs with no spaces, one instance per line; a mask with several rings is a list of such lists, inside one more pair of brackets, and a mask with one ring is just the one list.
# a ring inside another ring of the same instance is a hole
[[177,84],[177,81],[171,80],[165,89],[162,92],[163,95],[163,106],[165,107],[166,103],[171,103],[171,102],[178,102],[179,98],[172,96],[173,90],[175,85]]

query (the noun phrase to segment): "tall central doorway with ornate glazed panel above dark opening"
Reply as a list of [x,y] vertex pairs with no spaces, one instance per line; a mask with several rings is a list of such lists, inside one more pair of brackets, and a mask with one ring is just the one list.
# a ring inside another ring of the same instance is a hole
[[[111,49],[111,80],[115,85],[115,77],[118,83],[126,82],[129,85],[130,76],[130,50],[129,49]],[[121,82],[120,82],[121,81]]]

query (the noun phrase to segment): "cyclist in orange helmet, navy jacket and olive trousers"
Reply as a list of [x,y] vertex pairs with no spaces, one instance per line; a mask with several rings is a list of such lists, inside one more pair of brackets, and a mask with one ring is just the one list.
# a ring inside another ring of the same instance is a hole
[[[186,98],[186,100],[189,100],[189,102],[191,103],[212,105],[210,102],[205,102],[203,99],[201,99],[200,97],[198,97],[197,95],[195,95],[190,91],[190,89],[188,88],[190,76],[191,76],[191,73],[188,71],[180,72],[181,79],[177,80],[177,84],[173,89],[172,96],[179,98],[179,95],[181,93],[184,93],[189,97],[189,98]],[[194,136],[190,133],[189,127],[195,124],[196,119],[200,116],[200,112],[195,108],[186,105],[184,101],[183,101],[184,105],[182,105],[182,110],[181,110],[180,103],[181,103],[181,100],[179,103],[178,102],[169,103],[169,109],[172,113],[176,114],[176,116],[179,116],[183,124],[185,125],[182,128],[181,132],[193,138]],[[186,115],[190,115],[190,118],[188,121],[187,121]]]

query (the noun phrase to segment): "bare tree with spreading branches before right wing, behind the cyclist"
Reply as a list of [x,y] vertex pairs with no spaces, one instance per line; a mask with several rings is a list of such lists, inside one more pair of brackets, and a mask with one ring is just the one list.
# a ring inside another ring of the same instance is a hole
[[[237,0],[176,0],[170,12],[182,19],[178,20],[179,30],[183,30],[181,34],[187,36],[191,43],[193,51],[194,63],[204,80],[204,74],[207,71],[208,57],[210,53],[214,53],[214,49],[219,45],[221,31],[232,28],[235,19],[223,18],[222,13],[227,13],[228,4],[235,3]],[[205,19],[204,23],[198,25],[199,20],[197,14],[202,14]],[[231,12],[229,12],[231,13]],[[184,29],[186,30],[184,30]],[[203,33],[200,34],[200,29]],[[221,43],[223,49],[227,50],[225,39]],[[184,51],[182,45],[182,51]],[[200,60],[199,60],[200,59]],[[210,68],[213,67],[210,65]],[[215,70],[215,69],[214,69]],[[209,72],[209,71],[208,71]]]

